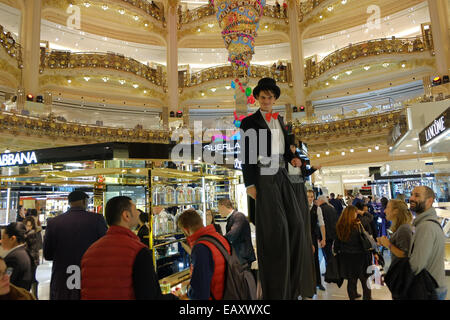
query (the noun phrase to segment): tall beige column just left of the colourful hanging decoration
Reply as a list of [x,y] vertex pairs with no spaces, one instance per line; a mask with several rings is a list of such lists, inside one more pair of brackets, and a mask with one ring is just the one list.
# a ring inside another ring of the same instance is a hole
[[167,21],[167,89],[169,112],[178,109],[178,39],[177,39],[177,0],[169,0],[165,15]]

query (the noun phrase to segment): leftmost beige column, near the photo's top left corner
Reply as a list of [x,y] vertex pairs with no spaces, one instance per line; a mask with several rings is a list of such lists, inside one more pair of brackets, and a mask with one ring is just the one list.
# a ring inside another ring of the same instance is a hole
[[25,0],[19,42],[22,46],[23,70],[21,86],[26,94],[39,95],[39,65],[42,0]]

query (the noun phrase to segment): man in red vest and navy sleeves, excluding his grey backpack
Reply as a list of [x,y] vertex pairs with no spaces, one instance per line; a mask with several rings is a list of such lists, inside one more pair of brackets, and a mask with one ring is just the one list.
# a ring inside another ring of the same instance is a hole
[[192,248],[192,274],[187,296],[191,300],[222,300],[225,282],[225,259],[212,243],[198,241],[203,236],[214,237],[222,243],[228,253],[231,247],[228,241],[220,235],[213,224],[203,226],[203,220],[194,210],[184,211],[178,218],[178,225],[187,237]]

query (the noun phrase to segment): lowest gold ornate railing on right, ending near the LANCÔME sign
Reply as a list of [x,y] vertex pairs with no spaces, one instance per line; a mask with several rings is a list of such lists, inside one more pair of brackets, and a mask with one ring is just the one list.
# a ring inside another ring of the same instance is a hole
[[326,123],[301,124],[293,123],[293,132],[303,139],[308,137],[328,137],[338,135],[357,136],[358,133],[375,132],[390,129],[400,122],[406,121],[405,110],[400,109],[375,115],[366,115],[352,119],[344,119]]

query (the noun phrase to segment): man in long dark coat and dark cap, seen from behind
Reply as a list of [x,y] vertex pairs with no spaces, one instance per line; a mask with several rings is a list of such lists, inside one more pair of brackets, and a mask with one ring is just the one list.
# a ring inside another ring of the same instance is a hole
[[[106,233],[103,216],[86,211],[88,198],[82,191],[73,191],[68,197],[69,211],[47,223],[44,258],[53,261],[50,300],[80,299],[79,283],[71,279],[79,278],[81,257]],[[71,281],[73,285],[68,286]]]

